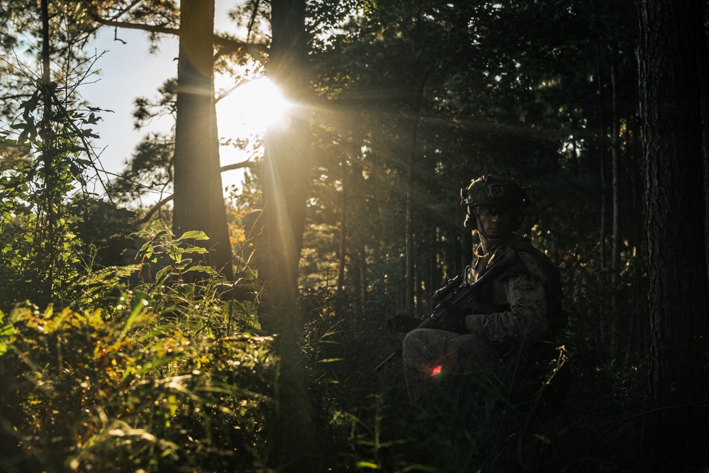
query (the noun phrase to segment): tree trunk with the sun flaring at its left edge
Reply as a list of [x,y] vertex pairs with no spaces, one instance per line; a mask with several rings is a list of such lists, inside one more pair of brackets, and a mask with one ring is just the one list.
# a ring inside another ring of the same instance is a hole
[[[271,25],[269,77],[287,98],[304,104],[308,90],[305,1],[272,0]],[[268,294],[259,316],[265,330],[279,333],[276,349],[281,359],[277,411],[269,419],[273,430],[269,463],[286,472],[320,471],[316,466],[320,443],[298,345],[302,325],[296,309],[311,168],[308,123],[298,115],[301,112],[302,108],[296,110],[287,123],[267,131],[262,173],[265,227],[257,249],[267,252],[259,258],[259,277],[264,277]]]

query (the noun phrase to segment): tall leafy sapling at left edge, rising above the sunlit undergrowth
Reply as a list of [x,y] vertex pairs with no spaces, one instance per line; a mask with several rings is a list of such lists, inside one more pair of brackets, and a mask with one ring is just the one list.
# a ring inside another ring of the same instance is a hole
[[[0,130],[2,308],[28,299],[46,304],[86,273],[122,264],[130,213],[91,196],[98,179],[89,140],[100,119],[57,84],[35,81],[21,115]],[[100,224],[100,227],[99,227]],[[77,238],[77,236],[79,238]],[[104,251],[106,250],[106,251]]]

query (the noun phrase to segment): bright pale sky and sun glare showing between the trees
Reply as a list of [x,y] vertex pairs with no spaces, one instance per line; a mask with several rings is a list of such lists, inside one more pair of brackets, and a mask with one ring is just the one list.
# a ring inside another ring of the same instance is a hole
[[[233,3],[233,0],[216,1],[216,30],[230,28],[226,11]],[[119,174],[143,136],[150,132],[167,133],[172,126],[171,118],[166,117],[150,123],[147,128],[136,130],[132,113],[136,97],[156,99],[157,89],[163,82],[177,76],[178,45],[178,38],[164,38],[159,43],[160,50],[151,54],[147,33],[143,31],[120,28],[116,31],[108,27],[99,30],[91,46],[97,57],[93,69],[98,74],[83,84],[80,91],[91,106],[106,110],[99,113],[101,121],[94,127],[94,132],[100,136],[94,140],[95,151],[106,172]],[[231,85],[223,81],[218,84]],[[244,138],[262,129],[267,119],[278,113],[272,108],[284,105],[278,103],[278,97],[277,91],[268,89],[264,84],[249,84],[237,89],[217,106],[220,136]],[[220,155],[222,165],[247,158],[245,154],[230,148],[222,148]],[[238,184],[241,177],[242,172],[239,171],[222,175],[225,186]]]

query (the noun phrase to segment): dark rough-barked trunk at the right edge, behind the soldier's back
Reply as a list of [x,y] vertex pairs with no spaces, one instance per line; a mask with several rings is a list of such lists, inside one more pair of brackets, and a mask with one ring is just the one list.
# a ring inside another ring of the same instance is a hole
[[648,457],[664,471],[709,462],[702,0],[640,0],[648,229]]

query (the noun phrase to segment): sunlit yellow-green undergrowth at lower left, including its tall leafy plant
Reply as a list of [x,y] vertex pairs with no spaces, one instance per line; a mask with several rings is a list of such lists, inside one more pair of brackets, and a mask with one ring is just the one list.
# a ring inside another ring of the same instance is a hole
[[[199,252],[151,227],[139,256],[170,264],[129,289],[140,265],[98,271],[75,286],[77,308],[19,304],[0,313],[3,471],[256,471],[273,407],[277,357],[255,335],[250,299],[224,291]],[[196,283],[185,272],[203,272]],[[102,284],[105,283],[105,284]],[[123,286],[120,295],[116,289]],[[106,288],[106,290],[101,289]]]

